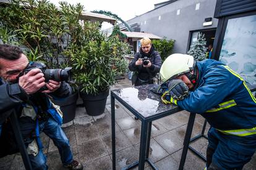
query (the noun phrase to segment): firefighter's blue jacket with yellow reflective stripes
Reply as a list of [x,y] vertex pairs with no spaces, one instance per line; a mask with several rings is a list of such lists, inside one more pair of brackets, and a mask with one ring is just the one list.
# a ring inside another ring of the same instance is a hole
[[199,113],[224,134],[256,134],[256,99],[241,76],[216,60],[197,62],[197,67],[197,88],[177,105]]

